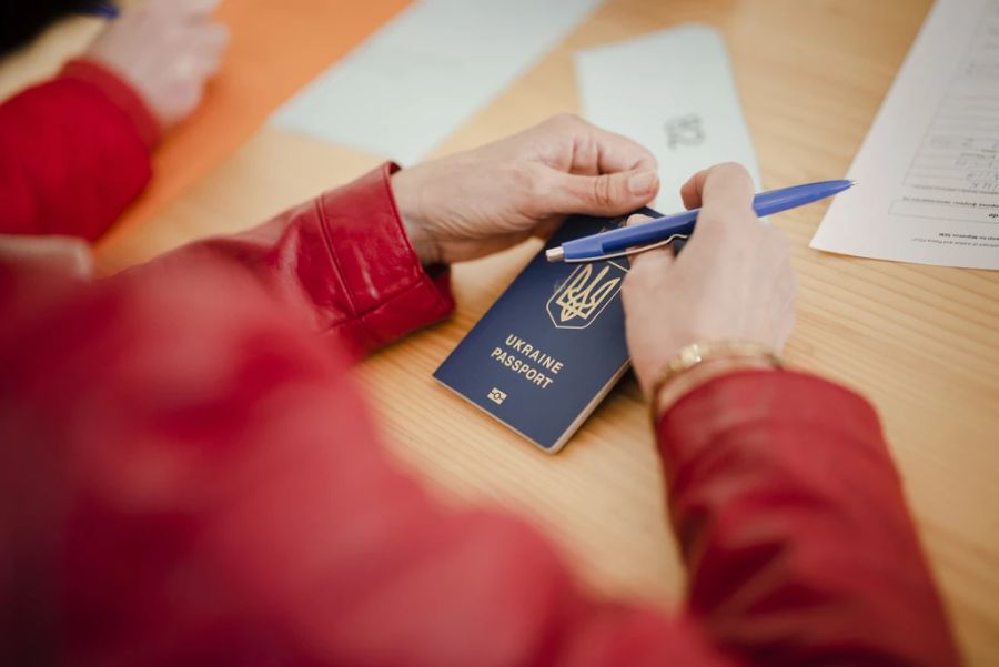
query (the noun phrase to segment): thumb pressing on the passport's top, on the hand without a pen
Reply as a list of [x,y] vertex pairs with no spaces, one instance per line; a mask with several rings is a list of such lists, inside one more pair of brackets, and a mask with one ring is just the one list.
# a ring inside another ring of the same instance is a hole
[[620,215],[650,202],[659,191],[659,176],[650,170],[596,176],[559,173],[549,191],[552,213]]

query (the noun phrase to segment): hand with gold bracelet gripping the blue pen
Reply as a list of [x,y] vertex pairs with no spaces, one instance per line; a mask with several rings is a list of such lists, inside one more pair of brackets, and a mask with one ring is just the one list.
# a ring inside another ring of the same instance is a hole
[[757,219],[746,170],[714,166],[680,193],[687,209],[702,206],[684,251],[634,255],[622,287],[632,364],[647,396],[664,365],[692,343],[738,340],[779,352],[794,326],[790,244]]

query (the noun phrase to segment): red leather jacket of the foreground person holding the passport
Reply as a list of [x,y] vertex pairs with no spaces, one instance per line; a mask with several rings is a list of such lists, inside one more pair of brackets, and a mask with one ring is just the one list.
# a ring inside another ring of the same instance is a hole
[[817,377],[659,422],[675,616],[435,504],[347,372],[452,309],[389,172],[98,283],[0,264],[0,663],[958,664],[877,416]]

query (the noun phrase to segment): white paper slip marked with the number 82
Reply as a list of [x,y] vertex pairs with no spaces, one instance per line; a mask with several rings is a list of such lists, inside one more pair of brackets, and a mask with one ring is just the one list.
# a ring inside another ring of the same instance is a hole
[[576,53],[583,114],[634,139],[659,162],[655,208],[683,211],[679,188],[718,162],[740,162],[760,185],[725,40],[683,26]]

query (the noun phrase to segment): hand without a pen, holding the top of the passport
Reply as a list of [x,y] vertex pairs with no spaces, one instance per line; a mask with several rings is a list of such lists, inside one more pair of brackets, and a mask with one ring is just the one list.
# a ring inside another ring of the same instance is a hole
[[659,190],[644,148],[574,115],[556,115],[480,149],[392,176],[424,264],[473,260],[545,235],[569,213],[619,215]]

